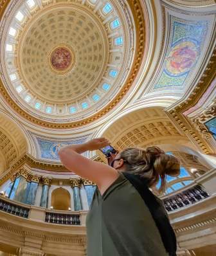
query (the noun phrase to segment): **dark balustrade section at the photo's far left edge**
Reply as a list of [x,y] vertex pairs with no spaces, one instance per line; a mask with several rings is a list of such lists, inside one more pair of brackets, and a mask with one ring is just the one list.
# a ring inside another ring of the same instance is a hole
[[30,208],[11,203],[8,200],[4,201],[3,199],[0,199],[0,210],[8,212],[8,214],[28,218]]

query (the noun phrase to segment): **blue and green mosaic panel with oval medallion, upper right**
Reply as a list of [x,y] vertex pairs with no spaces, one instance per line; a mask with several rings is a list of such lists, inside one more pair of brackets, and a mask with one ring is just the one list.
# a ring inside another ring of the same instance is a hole
[[171,18],[171,41],[163,72],[154,89],[184,86],[201,55],[208,30],[208,21],[186,21]]

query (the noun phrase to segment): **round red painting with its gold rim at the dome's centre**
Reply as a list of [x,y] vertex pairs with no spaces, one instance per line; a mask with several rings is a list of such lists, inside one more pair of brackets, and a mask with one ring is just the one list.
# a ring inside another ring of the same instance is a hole
[[51,69],[57,73],[66,73],[75,64],[75,53],[69,46],[56,46],[49,54]]

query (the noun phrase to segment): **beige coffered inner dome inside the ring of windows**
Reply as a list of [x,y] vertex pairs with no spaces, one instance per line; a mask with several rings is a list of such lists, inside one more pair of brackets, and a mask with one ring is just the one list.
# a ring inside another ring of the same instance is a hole
[[107,67],[105,27],[87,10],[67,8],[57,6],[30,19],[18,41],[19,77],[32,95],[49,104],[71,103],[91,93]]

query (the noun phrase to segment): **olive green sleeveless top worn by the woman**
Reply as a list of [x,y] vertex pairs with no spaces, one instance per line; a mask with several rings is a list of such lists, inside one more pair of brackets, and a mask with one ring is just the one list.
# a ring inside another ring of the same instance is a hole
[[86,228],[87,256],[168,256],[149,208],[122,173],[103,196],[96,188]]

